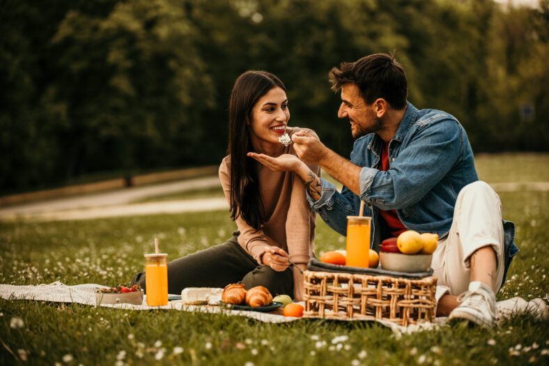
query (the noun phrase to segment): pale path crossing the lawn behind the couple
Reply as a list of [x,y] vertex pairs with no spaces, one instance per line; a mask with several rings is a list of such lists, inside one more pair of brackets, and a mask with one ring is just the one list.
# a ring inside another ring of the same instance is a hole
[[[496,192],[549,191],[549,182],[491,183],[490,185]],[[221,190],[217,176],[3,207],[0,208],[0,220],[88,220],[159,213],[228,210],[229,204],[224,197],[131,204],[132,201],[147,197],[210,187],[219,187]]]

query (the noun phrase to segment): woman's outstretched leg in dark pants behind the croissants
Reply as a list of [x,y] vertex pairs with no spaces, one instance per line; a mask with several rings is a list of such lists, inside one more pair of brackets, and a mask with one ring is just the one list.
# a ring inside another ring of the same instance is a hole
[[[223,244],[189,254],[168,263],[168,292],[180,293],[186,287],[225,287],[237,283],[257,267],[257,262],[233,236]],[[269,268],[270,269],[270,268]],[[146,292],[145,273],[137,273],[138,283]]]

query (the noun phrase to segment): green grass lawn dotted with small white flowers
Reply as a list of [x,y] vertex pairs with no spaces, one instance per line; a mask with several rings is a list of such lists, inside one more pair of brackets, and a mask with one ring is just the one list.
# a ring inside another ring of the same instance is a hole
[[[500,174],[496,173],[490,174]],[[502,192],[500,197],[504,218],[517,225],[521,251],[497,298],[544,297],[549,293],[549,192]],[[175,259],[222,243],[233,229],[224,211],[77,222],[0,222],[0,283],[127,283],[142,270],[142,254],[150,252],[155,236],[161,239],[162,251]],[[344,238],[319,219],[317,256],[344,246]],[[21,328],[10,327],[14,318],[22,319]],[[343,335],[348,338],[332,343]],[[19,363],[22,354],[29,365],[549,363],[547,323],[527,315],[490,330],[459,324],[396,337],[388,328],[358,321],[303,319],[269,324],[222,314],[0,300],[0,340],[1,365]]]

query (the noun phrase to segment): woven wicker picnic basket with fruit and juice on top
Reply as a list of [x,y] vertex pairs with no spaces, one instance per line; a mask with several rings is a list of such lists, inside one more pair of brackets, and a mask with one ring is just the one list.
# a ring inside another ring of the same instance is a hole
[[401,326],[435,319],[437,277],[420,279],[331,273],[304,273],[304,317],[383,319]]

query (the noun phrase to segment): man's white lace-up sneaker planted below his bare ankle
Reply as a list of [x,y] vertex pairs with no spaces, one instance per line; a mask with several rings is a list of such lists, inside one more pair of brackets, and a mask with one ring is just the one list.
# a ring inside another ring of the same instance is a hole
[[482,282],[471,282],[469,291],[458,296],[458,307],[450,313],[451,319],[464,319],[484,328],[492,328],[496,318],[494,291]]

